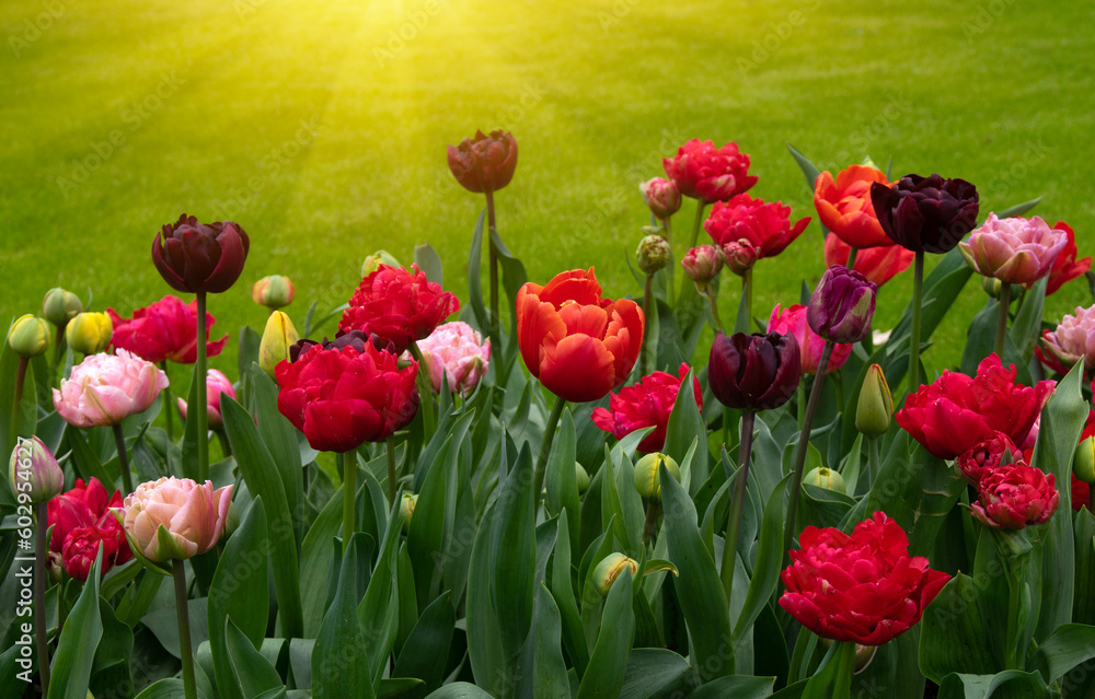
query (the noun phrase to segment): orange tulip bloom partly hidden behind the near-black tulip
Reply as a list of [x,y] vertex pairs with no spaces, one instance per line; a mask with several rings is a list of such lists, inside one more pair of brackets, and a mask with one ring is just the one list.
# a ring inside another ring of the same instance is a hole
[[848,247],[869,249],[892,244],[871,203],[872,183],[890,184],[885,173],[867,165],[851,165],[837,173],[835,180],[823,172],[814,183],[814,206],[821,224]]

